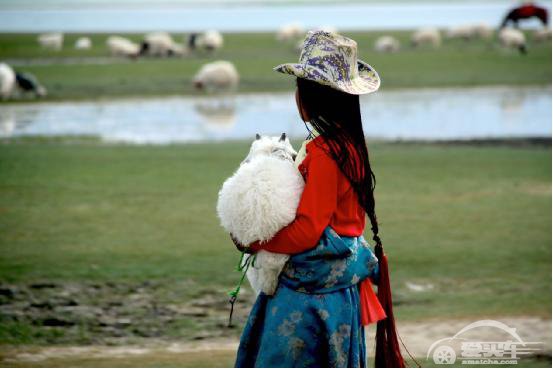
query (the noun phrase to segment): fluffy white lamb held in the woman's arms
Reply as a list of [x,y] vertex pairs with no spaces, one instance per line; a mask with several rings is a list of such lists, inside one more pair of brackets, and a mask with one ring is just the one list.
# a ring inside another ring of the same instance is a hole
[[[295,216],[304,181],[295,164],[296,152],[286,137],[260,137],[246,159],[219,192],[221,225],[240,243],[270,240]],[[289,256],[261,250],[248,280],[259,293],[272,295]]]

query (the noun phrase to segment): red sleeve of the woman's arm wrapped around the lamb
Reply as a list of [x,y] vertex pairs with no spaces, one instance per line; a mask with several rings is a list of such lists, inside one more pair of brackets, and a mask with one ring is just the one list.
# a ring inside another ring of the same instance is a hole
[[310,160],[296,218],[269,241],[251,244],[253,251],[297,254],[317,245],[336,210],[338,167],[324,153],[317,153]]

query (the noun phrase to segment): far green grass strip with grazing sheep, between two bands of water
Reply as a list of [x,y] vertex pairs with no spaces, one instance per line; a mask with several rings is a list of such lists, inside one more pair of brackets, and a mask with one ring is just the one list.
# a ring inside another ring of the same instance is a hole
[[[380,73],[383,88],[419,86],[549,85],[551,44],[530,41],[528,55],[501,49],[495,41],[465,43],[445,40],[439,49],[412,49],[409,32],[385,32],[398,37],[403,50],[397,54],[373,51],[376,38],[384,32],[343,32],[358,42],[359,57]],[[212,55],[191,55],[180,59],[113,59],[106,64],[75,61],[75,58],[108,56],[107,34],[92,35],[93,48],[77,51],[76,34],[66,35],[61,52],[42,50],[35,34],[0,34],[0,60],[47,62],[17,67],[34,73],[47,87],[47,100],[86,99],[110,96],[193,94],[193,75],[202,64],[230,60],[240,76],[240,92],[284,91],[293,86],[291,77],[272,67],[295,62],[293,43],[279,43],[272,33],[225,34],[225,46]],[[182,35],[174,35],[177,41]],[[128,35],[139,41],[141,35]],[[531,40],[531,36],[528,35]],[[66,63],[66,58],[73,62]],[[65,61],[64,61],[65,60]]]

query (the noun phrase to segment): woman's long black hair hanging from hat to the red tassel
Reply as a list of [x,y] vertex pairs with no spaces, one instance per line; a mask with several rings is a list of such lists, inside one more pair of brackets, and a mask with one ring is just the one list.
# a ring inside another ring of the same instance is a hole
[[376,178],[369,162],[359,96],[303,78],[297,78],[296,83],[299,102],[309,123],[325,138],[328,154],[349,180],[359,205],[371,221],[373,240],[380,246],[374,201]]

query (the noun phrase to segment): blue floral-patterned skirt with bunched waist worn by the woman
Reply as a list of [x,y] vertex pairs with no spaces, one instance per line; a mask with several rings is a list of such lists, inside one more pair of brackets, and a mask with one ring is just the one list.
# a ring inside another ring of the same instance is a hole
[[275,294],[257,297],[235,366],[366,367],[358,286],[377,274],[362,236],[327,227],[316,247],[288,260]]

